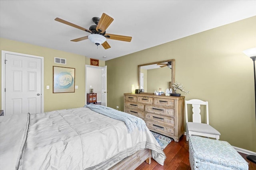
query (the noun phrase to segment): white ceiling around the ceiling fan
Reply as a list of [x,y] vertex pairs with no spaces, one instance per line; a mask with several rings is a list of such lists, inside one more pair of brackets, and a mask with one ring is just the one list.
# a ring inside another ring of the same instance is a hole
[[[106,33],[131,42],[108,39],[110,49],[97,49],[70,41],[89,33],[54,21],[89,29],[103,12],[114,18]],[[0,36],[106,61],[252,16],[256,0],[0,0]]]

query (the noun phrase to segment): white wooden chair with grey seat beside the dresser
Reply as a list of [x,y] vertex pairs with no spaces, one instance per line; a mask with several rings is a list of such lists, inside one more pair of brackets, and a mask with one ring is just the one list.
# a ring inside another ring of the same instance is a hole
[[[192,104],[193,122],[188,122],[188,104]],[[206,123],[201,123],[201,115],[200,115],[201,105],[206,105]],[[220,139],[220,132],[209,125],[208,102],[204,102],[198,99],[186,100],[185,111],[186,111],[186,140],[187,141],[190,135],[211,137],[217,140]]]

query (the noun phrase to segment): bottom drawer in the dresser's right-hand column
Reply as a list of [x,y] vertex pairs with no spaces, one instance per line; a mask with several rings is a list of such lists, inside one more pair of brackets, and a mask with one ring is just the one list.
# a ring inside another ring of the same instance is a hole
[[173,127],[168,127],[166,125],[162,125],[160,123],[156,123],[148,120],[146,120],[146,126],[148,127],[148,129],[151,129],[152,131],[158,132],[166,136],[174,135]]

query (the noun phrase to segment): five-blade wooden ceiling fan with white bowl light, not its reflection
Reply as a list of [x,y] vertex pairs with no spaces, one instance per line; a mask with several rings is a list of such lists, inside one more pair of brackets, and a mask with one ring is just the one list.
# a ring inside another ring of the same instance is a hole
[[110,48],[110,45],[108,44],[106,39],[114,39],[114,40],[127,41],[127,42],[130,42],[132,40],[132,37],[129,37],[129,36],[106,33],[106,29],[112,23],[113,20],[114,20],[113,18],[111,18],[107,14],[103,13],[101,18],[98,18],[98,17],[92,18],[92,21],[96,25],[91,25],[89,29],[86,29],[86,28],[80,27],[74,23],[62,20],[60,18],[55,18],[55,21],[59,21],[61,23],[64,23],[64,24],[70,25],[72,27],[86,31],[88,33],[91,33],[88,36],[80,37],[80,38],[73,39],[70,41],[78,42],[78,41],[90,39],[90,41],[92,41],[94,44],[96,44],[97,47],[98,47],[98,45],[101,44],[104,47],[104,49]]

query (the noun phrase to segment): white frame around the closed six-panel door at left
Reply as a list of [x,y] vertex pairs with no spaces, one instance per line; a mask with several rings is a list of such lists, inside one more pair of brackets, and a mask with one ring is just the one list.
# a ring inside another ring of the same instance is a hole
[[1,53],[1,62],[2,62],[2,67],[1,67],[1,72],[2,72],[2,75],[1,75],[2,76],[1,77],[1,94],[2,94],[1,108],[2,108],[2,110],[5,111],[5,92],[4,92],[4,89],[5,89],[5,55],[6,54],[33,57],[33,58],[41,59],[41,112],[44,112],[44,57],[22,54],[22,53],[15,53],[15,52],[4,51],[4,50],[2,50],[2,53]]

